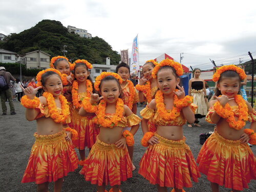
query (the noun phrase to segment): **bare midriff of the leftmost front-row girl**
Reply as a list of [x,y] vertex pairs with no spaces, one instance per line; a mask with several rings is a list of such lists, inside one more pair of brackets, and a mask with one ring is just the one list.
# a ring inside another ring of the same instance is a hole
[[62,123],[56,123],[52,118],[41,117],[36,120],[38,135],[52,135],[62,130]]

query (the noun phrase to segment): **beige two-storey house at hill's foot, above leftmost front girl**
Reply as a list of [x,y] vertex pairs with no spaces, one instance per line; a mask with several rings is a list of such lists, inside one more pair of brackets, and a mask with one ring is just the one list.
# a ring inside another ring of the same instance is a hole
[[26,64],[27,69],[48,69],[50,63],[49,54],[37,50],[30,53],[26,53],[21,57],[20,61]]

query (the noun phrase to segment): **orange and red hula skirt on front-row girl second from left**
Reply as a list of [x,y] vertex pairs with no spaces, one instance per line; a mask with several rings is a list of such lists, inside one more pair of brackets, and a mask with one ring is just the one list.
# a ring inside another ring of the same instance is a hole
[[106,144],[97,138],[81,174],[86,181],[101,186],[120,185],[133,176],[132,161],[127,148],[118,148],[116,144]]

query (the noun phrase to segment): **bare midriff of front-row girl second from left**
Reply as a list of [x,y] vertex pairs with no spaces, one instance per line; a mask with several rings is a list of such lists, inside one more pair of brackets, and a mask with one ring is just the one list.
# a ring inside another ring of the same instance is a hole
[[100,127],[99,140],[104,143],[114,144],[122,137],[123,128],[115,126],[113,128]]

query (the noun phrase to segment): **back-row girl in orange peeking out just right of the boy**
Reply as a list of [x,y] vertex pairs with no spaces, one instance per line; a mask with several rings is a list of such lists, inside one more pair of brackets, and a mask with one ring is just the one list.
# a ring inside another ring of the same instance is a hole
[[[155,60],[148,60],[142,66],[143,77],[135,87],[139,91],[140,102],[150,103],[157,91],[157,80],[152,77],[153,69],[157,64]],[[156,132],[156,126],[151,121],[148,121],[148,130]]]

